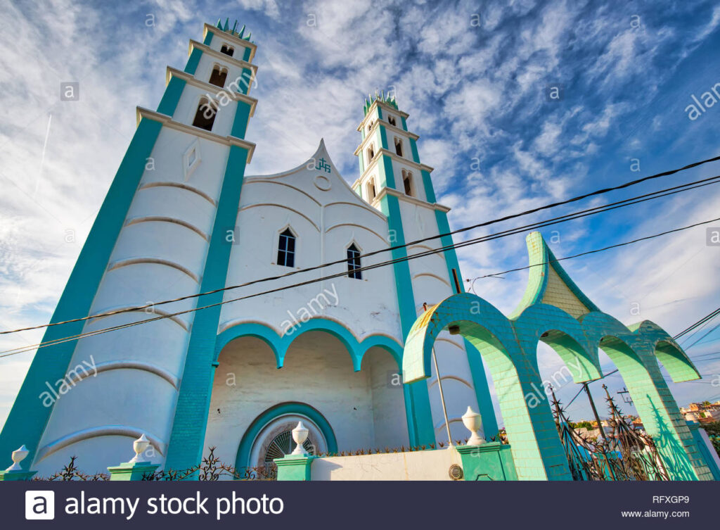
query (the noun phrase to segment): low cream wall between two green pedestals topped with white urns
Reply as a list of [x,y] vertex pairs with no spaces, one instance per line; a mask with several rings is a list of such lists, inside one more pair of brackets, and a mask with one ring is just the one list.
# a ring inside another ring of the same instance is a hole
[[452,464],[462,467],[455,449],[409,453],[330,456],[312,462],[312,480],[451,480]]

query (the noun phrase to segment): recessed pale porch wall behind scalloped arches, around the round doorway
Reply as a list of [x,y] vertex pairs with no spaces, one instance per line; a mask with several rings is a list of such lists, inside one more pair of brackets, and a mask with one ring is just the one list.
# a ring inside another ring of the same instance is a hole
[[318,410],[333,429],[339,451],[408,444],[402,389],[384,384],[393,369],[390,353],[372,352],[363,370],[355,372],[336,337],[307,332],[292,343],[281,369],[270,348],[255,337],[228,344],[219,361],[204,447],[216,446],[215,456],[222,461],[234,464],[253,420],[284,402]]

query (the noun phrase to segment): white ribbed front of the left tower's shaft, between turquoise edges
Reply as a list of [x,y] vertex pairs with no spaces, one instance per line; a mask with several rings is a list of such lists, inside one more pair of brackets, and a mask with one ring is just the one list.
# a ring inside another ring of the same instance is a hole
[[[186,176],[183,155],[196,142],[200,162]],[[150,154],[152,163],[146,165],[91,313],[143,306],[199,291],[207,240],[198,232],[210,232],[227,151],[227,146],[161,129]],[[86,323],[84,332],[192,309],[195,303],[190,299],[94,319]],[[85,363],[90,370],[87,363],[91,363],[112,369],[100,368],[58,399],[34,463],[40,476],[61,469],[71,455],[78,456],[80,469],[105,472],[109,465],[132,457],[132,440],[139,433],[156,441],[158,451],[152,459],[163,461],[193,317],[189,313],[78,341],[70,368]],[[103,434],[117,429],[126,434]],[[63,440],[68,436],[79,438],[66,444]]]

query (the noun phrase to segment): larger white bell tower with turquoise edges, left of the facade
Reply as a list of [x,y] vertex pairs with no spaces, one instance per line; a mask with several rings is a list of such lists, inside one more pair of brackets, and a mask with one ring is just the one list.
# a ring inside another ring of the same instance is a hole
[[[138,128],[0,434],[0,454],[24,444],[23,466],[45,476],[73,454],[84,469],[102,470],[144,433],[166,467],[202,457],[220,317],[212,304],[222,293],[158,302],[225,286],[228,227],[255,148],[245,140],[257,103],[249,37],[238,22],[205,24],[184,69],[168,66],[157,110],[138,107]],[[193,312],[202,306],[212,307]],[[104,316],[83,319],[91,314]]]

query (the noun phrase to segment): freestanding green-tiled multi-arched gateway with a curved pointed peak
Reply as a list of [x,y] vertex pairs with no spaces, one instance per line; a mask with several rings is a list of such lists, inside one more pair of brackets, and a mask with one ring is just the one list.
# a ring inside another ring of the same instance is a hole
[[688,355],[653,322],[626,327],[601,312],[565,273],[539,232],[526,239],[530,277],[518,309],[505,317],[469,293],[432,306],[408,335],[403,383],[430,376],[433,344],[441,331],[462,335],[492,375],[518,479],[572,480],[543,392],[537,345],[552,346],[575,368],[575,383],[602,377],[598,348],[603,348],[623,376],[670,480],[713,480],[658,363],[676,383],[700,379]]

